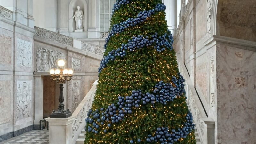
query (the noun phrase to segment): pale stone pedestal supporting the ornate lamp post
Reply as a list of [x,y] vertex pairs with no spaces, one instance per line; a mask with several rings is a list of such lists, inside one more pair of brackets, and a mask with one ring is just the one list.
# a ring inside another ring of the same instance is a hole
[[71,144],[74,116],[68,118],[46,118],[49,122],[49,144]]

